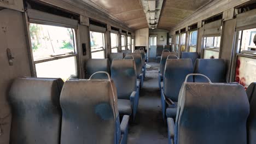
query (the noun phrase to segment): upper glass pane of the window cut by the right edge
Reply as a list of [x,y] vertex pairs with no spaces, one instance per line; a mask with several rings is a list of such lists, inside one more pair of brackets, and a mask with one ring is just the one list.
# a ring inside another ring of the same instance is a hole
[[238,50],[241,51],[256,51],[256,46],[253,43],[253,38],[256,34],[256,28],[239,31]]

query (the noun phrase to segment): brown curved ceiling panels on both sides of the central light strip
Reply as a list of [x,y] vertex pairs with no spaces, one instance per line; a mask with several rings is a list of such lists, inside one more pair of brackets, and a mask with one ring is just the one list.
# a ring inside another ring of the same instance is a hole
[[[84,0],[82,0],[84,1]],[[148,27],[140,0],[90,0],[114,15],[131,29]],[[147,1],[147,0],[144,0]],[[150,0],[152,1],[152,0]],[[165,0],[157,28],[170,30],[194,11],[212,0]]]

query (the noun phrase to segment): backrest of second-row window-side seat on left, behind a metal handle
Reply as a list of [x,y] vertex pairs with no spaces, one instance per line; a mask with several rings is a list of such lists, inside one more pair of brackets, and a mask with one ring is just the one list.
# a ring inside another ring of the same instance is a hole
[[[110,74],[110,63],[109,59],[88,59],[86,66],[86,75],[85,78],[89,79],[89,77],[96,73],[97,71],[106,71]],[[106,74],[98,74],[95,75],[95,79],[108,79]]]

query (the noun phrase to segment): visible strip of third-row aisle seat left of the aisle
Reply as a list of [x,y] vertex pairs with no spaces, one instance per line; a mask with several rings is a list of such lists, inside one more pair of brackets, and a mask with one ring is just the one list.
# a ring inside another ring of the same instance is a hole
[[[137,79],[139,80],[140,87],[143,87],[143,81],[144,81],[144,74],[143,74],[143,66],[142,66],[142,56],[141,53],[127,53],[126,55],[126,59],[129,58],[127,56],[132,56],[134,61],[135,61],[135,65],[136,65],[136,74],[137,74]],[[131,58],[131,57],[130,57]]]

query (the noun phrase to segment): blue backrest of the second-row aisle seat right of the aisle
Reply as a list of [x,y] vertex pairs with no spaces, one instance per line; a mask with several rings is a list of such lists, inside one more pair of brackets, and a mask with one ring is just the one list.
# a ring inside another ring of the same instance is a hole
[[[164,94],[173,101],[178,101],[179,89],[188,74],[193,73],[191,59],[167,59],[164,72]],[[189,81],[193,81],[189,77]]]

